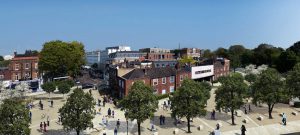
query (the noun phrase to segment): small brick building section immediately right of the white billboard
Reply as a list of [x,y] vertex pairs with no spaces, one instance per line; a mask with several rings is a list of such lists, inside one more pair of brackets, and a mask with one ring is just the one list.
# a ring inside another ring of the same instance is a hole
[[217,58],[214,61],[214,77],[213,80],[217,80],[221,76],[229,74],[230,60],[226,58]]

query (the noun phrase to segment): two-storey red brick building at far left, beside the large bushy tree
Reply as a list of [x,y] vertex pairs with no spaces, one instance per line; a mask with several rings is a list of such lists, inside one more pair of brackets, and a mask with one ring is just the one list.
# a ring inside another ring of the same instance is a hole
[[18,55],[15,53],[11,59],[9,70],[11,71],[11,80],[32,80],[38,78],[38,60],[37,54],[27,52]]

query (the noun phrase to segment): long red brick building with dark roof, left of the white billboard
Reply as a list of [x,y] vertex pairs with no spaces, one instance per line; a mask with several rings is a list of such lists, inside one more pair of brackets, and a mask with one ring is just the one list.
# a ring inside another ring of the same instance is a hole
[[181,85],[184,78],[191,78],[190,68],[135,68],[125,75],[117,77],[117,93],[120,97],[126,96],[135,81],[143,81],[146,85],[151,86],[154,89],[153,93],[171,93]]

